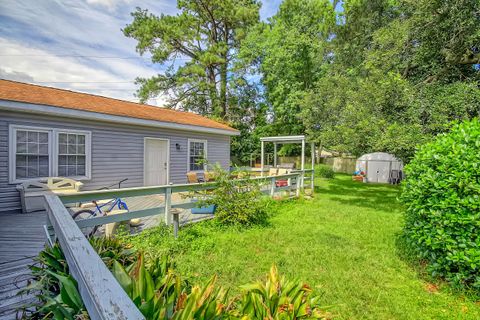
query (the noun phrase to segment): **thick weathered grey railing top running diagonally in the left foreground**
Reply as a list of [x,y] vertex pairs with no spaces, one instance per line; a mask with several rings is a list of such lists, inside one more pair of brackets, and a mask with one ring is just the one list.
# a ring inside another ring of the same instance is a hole
[[76,225],[60,199],[45,196],[47,214],[78,282],[80,295],[91,319],[145,319],[107,269]]

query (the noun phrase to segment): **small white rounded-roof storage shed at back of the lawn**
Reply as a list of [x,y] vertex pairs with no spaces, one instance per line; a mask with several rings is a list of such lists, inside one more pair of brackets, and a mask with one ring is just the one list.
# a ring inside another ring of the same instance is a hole
[[365,172],[367,182],[388,183],[392,170],[403,170],[403,162],[390,153],[367,153],[357,159],[355,169]]

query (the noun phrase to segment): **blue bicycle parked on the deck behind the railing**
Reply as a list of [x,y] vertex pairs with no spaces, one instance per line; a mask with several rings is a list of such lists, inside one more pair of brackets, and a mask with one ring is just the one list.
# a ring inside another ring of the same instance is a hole
[[[118,188],[120,189],[122,182],[125,182],[127,180],[128,178],[120,180],[118,182]],[[98,190],[109,190],[110,187],[113,187],[115,185],[117,185],[117,183],[114,183],[107,187],[102,187]],[[90,219],[98,216],[103,217],[103,216],[106,216],[109,212],[111,212],[115,208],[118,208],[119,210],[127,210],[127,212],[129,210],[127,204],[121,198],[113,198],[105,203],[99,203],[97,200],[92,200],[92,204],[95,206],[94,210],[91,210],[91,209],[79,210],[72,215],[73,220],[78,221],[78,220]],[[108,207],[108,208],[104,209],[105,207]],[[93,226],[93,227],[85,227],[85,228],[82,228],[82,232],[83,234],[85,234],[86,237],[89,238],[95,235],[99,227],[100,225]]]

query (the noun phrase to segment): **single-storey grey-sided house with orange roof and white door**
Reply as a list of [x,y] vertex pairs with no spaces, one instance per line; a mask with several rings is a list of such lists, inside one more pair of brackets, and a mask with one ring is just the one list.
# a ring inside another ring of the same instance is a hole
[[37,177],[82,190],[185,183],[203,157],[228,167],[238,134],[190,112],[0,80],[0,213],[19,212],[16,185]]

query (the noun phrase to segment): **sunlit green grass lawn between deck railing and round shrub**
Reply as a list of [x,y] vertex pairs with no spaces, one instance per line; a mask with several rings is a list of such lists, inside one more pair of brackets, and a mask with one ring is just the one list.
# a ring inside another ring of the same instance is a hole
[[214,273],[237,286],[279,271],[309,283],[336,319],[480,319],[480,303],[422,279],[395,246],[402,225],[397,187],[348,176],[317,180],[313,200],[273,205],[271,225],[248,230],[200,223],[180,239],[145,232],[138,247],[168,251],[193,282]]

